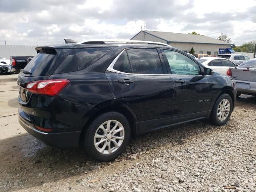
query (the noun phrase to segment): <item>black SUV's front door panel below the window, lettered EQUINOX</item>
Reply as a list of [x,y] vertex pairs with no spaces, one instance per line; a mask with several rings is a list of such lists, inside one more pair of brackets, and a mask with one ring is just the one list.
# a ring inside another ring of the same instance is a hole
[[[212,82],[209,76],[171,75],[175,86],[172,123],[206,117],[211,110]],[[178,83],[183,80],[184,83]]]

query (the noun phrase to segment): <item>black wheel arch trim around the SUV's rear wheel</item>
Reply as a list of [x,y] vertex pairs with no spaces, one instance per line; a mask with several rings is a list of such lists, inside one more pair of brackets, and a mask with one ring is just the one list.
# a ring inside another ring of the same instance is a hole
[[138,134],[137,117],[134,111],[127,104],[124,104],[119,100],[112,100],[98,104],[87,113],[90,114],[90,116],[86,118],[86,123],[84,124],[82,132],[80,134],[79,144],[81,144],[84,132],[86,132],[88,126],[90,126],[94,119],[106,112],[118,112],[120,114],[123,114],[130,122],[131,135],[135,136]]

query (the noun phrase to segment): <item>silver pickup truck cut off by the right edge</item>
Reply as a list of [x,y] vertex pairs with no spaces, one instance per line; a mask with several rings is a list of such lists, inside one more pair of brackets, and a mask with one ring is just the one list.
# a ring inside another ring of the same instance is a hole
[[227,75],[234,79],[237,96],[243,94],[256,95],[256,58],[231,67]]

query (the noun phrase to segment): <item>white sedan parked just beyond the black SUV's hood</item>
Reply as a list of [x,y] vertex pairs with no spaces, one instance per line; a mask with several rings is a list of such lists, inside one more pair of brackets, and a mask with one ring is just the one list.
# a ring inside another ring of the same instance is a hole
[[214,72],[218,72],[222,75],[226,75],[228,68],[231,66],[237,66],[234,62],[219,58],[219,57],[204,57],[198,59],[205,67],[212,69]]

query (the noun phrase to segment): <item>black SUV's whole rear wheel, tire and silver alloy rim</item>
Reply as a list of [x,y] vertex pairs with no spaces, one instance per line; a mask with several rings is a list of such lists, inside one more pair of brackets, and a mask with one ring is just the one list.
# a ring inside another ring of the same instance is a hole
[[[108,122],[110,122],[109,123],[110,129],[107,128]],[[115,129],[113,129],[114,126],[116,126]],[[123,127],[123,130],[122,130],[122,127]],[[109,132],[109,130],[112,132]],[[114,132],[116,130],[119,130],[119,131],[116,132],[115,134]],[[97,135],[96,135],[96,132],[97,132]],[[84,133],[84,137],[83,137],[84,150],[88,153],[88,155],[92,159],[96,161],[106,162],[106,161],[114,160],[125,150],[126,146],[130,141],[130,135],[131,135],[130,124],[124,115],[118,112],[106,112],[98,116],[90,124],[90,126]],[[123,138],[123,139],[119,140],[116,137]],[[116,142],[114,142],[114,140]],[[110,149],[109,149],[109,144],[110,144]]]

